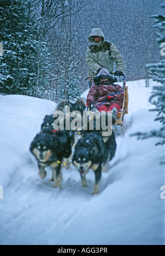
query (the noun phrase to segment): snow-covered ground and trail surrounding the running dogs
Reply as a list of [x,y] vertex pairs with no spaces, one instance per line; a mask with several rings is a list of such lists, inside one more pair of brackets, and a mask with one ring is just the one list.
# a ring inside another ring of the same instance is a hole
[[127,85],[129,114],[98,195],[91,195],[92,171],[87,175],[89,187],[81,188],[75,167],[63,168],[63,190],[53,187],[51,170],[43,180],[37,175],[29,145],[56,104],[0,96],[0,244],[164,244],[164,147],[155,146],[156,138],[130,137],[160,124],[153,121],[156,113],[149,112],[151,87],[145,88],[144,80]]

